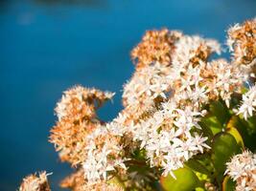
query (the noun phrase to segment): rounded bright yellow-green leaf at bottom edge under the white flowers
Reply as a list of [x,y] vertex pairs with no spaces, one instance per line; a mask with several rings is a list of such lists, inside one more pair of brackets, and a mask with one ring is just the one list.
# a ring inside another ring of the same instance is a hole
[[200,186],[198,177],[189,168],[179,168],[174,171],[176,180],[168,175],[167,177],[161,177],[161,186],[166,191],[188,191],[194,190]]

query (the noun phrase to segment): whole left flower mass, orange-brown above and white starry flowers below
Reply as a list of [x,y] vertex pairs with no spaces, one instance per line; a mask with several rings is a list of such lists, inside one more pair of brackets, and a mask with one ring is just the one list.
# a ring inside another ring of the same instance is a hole
[[[113,95],[76,86],[64,92],[57,104],[58,122],[50,141],[56,145],[60,159],[71,162],[79,172],[82,169],[88,184],[106,180],[106,173],[116,166],[126,169],[120,135],[114,134],[96,115],[96,110]],[[75,186],[79,190],[86,183],[79,181]]]

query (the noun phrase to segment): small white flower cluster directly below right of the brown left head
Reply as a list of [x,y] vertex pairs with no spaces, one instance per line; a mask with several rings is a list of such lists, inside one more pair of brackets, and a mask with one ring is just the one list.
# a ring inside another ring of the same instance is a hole
[[[87,158],[82,167],[84,177],[88,182],[97,180],[107,180],[107,173],[114,171],[115,167],[120,166],[126,169],[125,158],[119,156],[123,149],[116,138],[123,135],[122,128],[116,122],[107,123],[105,126],[99,125],[93,133],[86,137],[88,142],[84,148],[87,152]],[[101,138],[101,145],[98,145]],[[104,145],[102,145],[104,144]]]

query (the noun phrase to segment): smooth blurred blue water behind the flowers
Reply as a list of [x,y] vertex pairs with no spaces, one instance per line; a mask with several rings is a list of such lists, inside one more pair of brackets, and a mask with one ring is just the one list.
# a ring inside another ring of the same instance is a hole
[[0,190],[38,170],[54,172],[59,190],[70,170],[48,136],[61,92],[74,84],[116,92],[100,111],[115,117],[133,72],[129,52],[146,30],[223,42],[230,24],[255,13],[255,0],[0,0]]

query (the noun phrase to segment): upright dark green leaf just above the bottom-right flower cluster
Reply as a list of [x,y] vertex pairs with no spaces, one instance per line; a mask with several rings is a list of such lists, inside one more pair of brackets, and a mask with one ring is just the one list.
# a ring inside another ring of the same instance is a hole
[[236,138],[228,133],[219,133],[213,139],[212,160],[217,171],[216,177],[219,182],[223,178],[225,163],[235,154],[241,151]]

